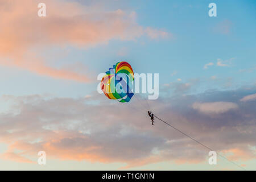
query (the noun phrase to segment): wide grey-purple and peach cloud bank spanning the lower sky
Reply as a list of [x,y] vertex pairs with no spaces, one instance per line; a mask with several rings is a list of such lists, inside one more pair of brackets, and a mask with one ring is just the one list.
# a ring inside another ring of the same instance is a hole
[[[241,104],[239,99],[251,90],[160,97],[148,104],[184,133],[227,156],[235,154],[233,160],[245,163],[255,158],[249,146],[256,146],[256,103]],[[126,163],[123,168],[163,161],[200,163],[208,156],[207,150],[163,123],[156,122],[152,129],[143,100],[121,104],[100,94],[76,99],[2,98],[13,103],[9,111],[0,113],[0,141],[8,145],[6,156],[18,150],[17,155],[32,158],[43,150],[49,160]]]

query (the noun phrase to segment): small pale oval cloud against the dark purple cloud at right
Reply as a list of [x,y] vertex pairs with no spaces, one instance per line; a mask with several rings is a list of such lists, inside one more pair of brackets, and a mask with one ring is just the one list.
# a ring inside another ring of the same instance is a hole
[[210,113],[221,114],[229,110],[238,109],[238,105],[233,102],[205,102],[205,103],[195,102],[192,105],[192,107],[193,109],[206,114],[210,114]]

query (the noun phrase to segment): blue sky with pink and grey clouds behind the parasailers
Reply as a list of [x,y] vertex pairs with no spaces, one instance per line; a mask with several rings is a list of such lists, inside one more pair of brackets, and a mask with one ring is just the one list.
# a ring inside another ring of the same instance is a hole
[[[39,17],[39,3],[46,16]],[[217,16],[210,17],[209,3]],[[0,2],[1,170],[256,169],[255,1]],[[159,97],[97,92],[118,61]],[[45,151],[46,165],[38,164]]]

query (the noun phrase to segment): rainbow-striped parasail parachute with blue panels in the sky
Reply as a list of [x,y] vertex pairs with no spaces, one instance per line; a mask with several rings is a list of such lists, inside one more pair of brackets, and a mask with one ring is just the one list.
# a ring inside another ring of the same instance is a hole
[[129,102],[134,95],[133,81],[133,68],[129,63],[121,61],[106,72],[101,80],[101,90],[109,99]]

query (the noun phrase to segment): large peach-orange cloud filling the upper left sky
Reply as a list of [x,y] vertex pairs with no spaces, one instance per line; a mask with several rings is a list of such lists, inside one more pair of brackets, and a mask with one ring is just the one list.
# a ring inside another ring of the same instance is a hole
[[[72,46],[79,49],[107,44],[109,40],[135,40],[141,36],[167,38],[170,33],[136,22],[135,12],[107,10],[99,5],[46,0],[46,17],[38,16],[39,1],[1,1],[0,64],[19,67],[53,78],[92,81],[89,68],[77,73],[49,64],[42,51]],[[24,11],[26,9],[26,11]],[[18,31],[17,31],[18,30]],[[64,65],[65,67],[65,65]]]

